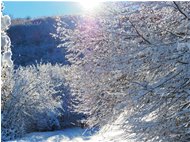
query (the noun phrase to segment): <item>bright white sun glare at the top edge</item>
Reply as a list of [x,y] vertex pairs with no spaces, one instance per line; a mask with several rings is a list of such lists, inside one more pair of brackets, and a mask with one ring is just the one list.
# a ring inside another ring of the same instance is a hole
[[96,8],[100,1],[99,0],[80,0],[79,3],[85,10],[92,10]]

